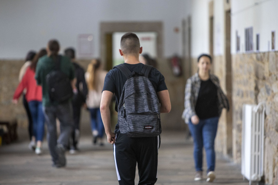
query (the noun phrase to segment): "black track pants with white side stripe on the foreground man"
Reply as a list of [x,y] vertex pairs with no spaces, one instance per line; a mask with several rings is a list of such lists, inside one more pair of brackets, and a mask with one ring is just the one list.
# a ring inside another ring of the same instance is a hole
[[160,137],[129,138],[116,134],[114,159],[120,185],[134,185],[136,164],[138,185],[154,184],[157,181],[158,148]]

